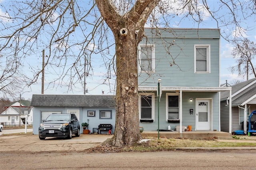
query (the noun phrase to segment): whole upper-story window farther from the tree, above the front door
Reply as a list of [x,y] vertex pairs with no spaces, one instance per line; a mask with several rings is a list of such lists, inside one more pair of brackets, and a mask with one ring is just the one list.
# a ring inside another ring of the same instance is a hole
[[195,45],[195,73],[210,73],[210,45]]

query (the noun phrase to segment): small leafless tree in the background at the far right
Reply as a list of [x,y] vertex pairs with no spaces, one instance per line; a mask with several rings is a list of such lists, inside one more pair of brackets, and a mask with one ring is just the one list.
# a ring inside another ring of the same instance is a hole
[[232,55],[236,59],[237,65],[230,67],[232,73],[238,71],[238,76],[247,77],[254,75],[256,77],[256,67],[254,59],[256,57],[256,43],[251,42],[248,38],[242,41],[236,41],[236,46],[232,50]]

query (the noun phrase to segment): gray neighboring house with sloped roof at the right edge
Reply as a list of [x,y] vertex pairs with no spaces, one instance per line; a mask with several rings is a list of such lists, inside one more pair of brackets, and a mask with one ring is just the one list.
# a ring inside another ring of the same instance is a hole
[[[228,132],[231,122],[231,131],[244,130],[246,133],[246,123],[248,121],[250,113],[256,110],[256,78],[232,85],[232,117],[230,121],[229,117],[229,104],[230,97],[228,92],[221,92],[220,99],[220,127],[221,131]],[[244,117],[246,115],[246,117]],[[252,120],[256,120],[256,117],[252,117]],[[242,126],[245,125],[245,126]]]

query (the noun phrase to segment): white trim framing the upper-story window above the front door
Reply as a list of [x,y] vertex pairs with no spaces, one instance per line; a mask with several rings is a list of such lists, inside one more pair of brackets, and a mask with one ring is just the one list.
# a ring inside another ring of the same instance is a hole
[[[196,71],[196,48],[206,48],[206,71]],[[195,44],[194,45],[194,71],[195,73],[211,73],[211,45]]]

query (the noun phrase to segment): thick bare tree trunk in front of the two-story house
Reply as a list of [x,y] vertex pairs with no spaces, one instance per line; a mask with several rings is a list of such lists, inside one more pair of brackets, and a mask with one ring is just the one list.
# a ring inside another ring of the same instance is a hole
[[95,0],[116,43],[116,124],[112,146],[132,146],[140,138],[138,112],[137,46],[144,35],[144,25],[159,0],[137,0],[121,16],[111,0]]

